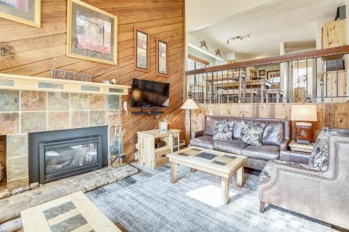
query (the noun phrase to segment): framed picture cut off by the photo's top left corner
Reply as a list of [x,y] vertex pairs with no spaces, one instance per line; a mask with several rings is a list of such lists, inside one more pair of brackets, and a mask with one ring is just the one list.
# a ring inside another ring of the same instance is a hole
[[0,17],[40,27],[40,0],[0,0]]

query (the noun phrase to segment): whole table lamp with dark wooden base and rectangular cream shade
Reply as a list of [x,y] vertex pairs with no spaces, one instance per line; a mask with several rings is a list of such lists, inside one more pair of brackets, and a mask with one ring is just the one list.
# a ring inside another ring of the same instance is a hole
[[296,121],[295,142],[311,144],[313,139],[313,123],[318,121],[316,105],[292,105],[291,120]]

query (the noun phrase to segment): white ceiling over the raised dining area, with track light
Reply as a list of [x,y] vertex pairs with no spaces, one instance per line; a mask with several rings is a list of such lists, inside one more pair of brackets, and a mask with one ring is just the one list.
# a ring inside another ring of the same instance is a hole
[[[346,0],[274,1],[273,4],[235,13],[224,22],[193,34],[245,59],[276,56],[279,55],[280,42],[297,47],[314,45],[318,22],[334,20],[336,8],[345,4]],[[246,34],[251,34],[251,40],[235,40],[227,45],[228,38]]]

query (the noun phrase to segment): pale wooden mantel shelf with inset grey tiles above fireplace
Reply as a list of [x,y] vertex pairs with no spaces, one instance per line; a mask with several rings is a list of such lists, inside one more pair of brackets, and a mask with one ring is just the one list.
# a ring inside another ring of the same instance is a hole
[[128,95],[128,88],[131,86],[0,73],[0,89]]

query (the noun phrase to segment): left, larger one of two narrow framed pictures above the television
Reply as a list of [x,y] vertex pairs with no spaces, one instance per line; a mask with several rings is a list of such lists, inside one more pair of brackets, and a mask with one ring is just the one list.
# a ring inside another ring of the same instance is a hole
[[135,27],[135,70],[149,72],[149,33]]

